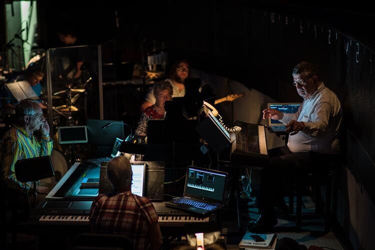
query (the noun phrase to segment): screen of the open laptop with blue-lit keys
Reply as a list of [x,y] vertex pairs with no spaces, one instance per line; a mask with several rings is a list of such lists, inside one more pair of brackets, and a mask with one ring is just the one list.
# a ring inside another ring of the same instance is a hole
[[227,173],[199,167],[187,167],[184,196],[223,203]]

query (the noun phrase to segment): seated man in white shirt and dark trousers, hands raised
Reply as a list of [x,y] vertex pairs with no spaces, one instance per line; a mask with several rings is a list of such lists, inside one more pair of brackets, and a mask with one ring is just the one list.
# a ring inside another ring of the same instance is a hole
[[310,62],[298,63],[292,76],[292,83],[303,98],[298,111],[283,113],[271,108],[263,110],[263,119],[271,117],[286,124],[286,132],[290,136],[287,146],[268,152],[271,158],[268,166],[260,172],[256,197],[260,215],[249,225],[248,229],[252,231],[269,230],[277,224],[274,206],[280,203],[284,205],[282,181],[289,180],[296,173],[324,171],[324,160],[335,159],[339,153],[342,111],[337,96],[320,80],[317,66]]

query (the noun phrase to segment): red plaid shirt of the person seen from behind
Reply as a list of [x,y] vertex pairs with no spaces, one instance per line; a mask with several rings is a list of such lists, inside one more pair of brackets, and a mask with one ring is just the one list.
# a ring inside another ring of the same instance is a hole
[[133,240],[134,249],[147,248],[148,226],[157,219],[152,203],[130,191],[100,194],[90,209],[95,232],[125,234]]

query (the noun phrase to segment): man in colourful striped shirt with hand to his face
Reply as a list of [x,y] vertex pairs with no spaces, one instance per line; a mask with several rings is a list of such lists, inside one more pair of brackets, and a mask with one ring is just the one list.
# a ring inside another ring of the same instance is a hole
[[[14,164],[19,159],[50,155],[52,140],[49,137],[49,125],[37,101],[21,100],[15,107],[15,123],[4,134],[0,143],[2,179],[9,191],[23,191],[24,183],[15,177]],[[39,130],[41,138],[32,133]],[[26,183],[27,188],[31,182]],[[46,193],[47,187],[36,186],[39,193]]]

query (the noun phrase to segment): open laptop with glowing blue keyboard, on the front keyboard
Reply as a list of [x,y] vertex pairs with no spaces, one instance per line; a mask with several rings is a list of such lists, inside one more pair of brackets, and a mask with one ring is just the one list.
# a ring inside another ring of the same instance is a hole
[[183,197],[165,202],[168,207],[207,214],[221,208],[228,174],[211,169],[188,166]]

